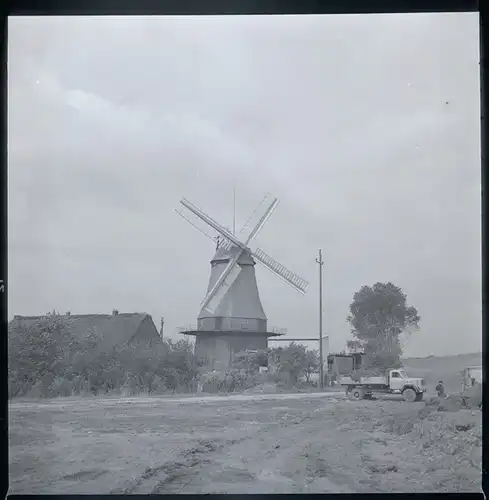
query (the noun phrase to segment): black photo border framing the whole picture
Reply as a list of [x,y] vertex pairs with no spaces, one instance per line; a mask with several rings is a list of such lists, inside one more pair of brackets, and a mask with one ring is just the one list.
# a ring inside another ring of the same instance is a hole
[[[479,12],[479,29],[480,29],[480,81],[481,81],[481,179],[482,179],[482,293],[483,293],[483,372],[484,380],[486,377],[487,367],[487,308],[488,303],[488,276],[486,257],[487,257],[487,236],[489,234],[487,228],[487,219],[484,214],[488,213],[488,197],[484,196],[487,188],[487,160],[486,160],[486,126],[484,117],[487,116],[487,90],[486,90],[486,72],[485,53],[487,52],[487,37],[488,30],[485,24],[489,22],[489,1],[483,0],[18,0],[7,3],[6,15],[3,16],[3,46],[2,46],[2,63],[4,71],[3,78],[3,162],[1,168],[2,183],[1,183],[1,203],[0,203],[0,218],[2,221],[3,231],[1,232],[1,269],[0,269],[0,318],[1,318],[1,355],[3,363],[1,364],[1,393],[0,397],[3,401],[2,411],[0,414],[1,421],[1,459],[2,473],[1,484],[3,484],[2,492],[5,495],[8,491],[8,391],[7,391],[7,331],[8,331],[8,314],[7,314],[7,294],[9,288],[8,281],[8,255],[7,255],[7,40],[8,40],[8,20],[7,16],[42,16],[42,15],[283,15],[283,14],[375,14],[375,13],[436,13],[436,12]],[[48,284],[46,284],[48,286]],[[40,291],[42,293],[42,291]],[[463,332],[461,332],[463,334]],[[487,386],[483,386],[483,401],[487,399]],[[486,429],[486,419],[483,413],[483,428]],[[483,489],[487,488],[487,467],[489,467],[488,452],[483,447]],[[483,498],[483,494],[468,494],[468,493],[432,493],[432,494],[380,494],[384,497],[422,497],[424,495],[440,498]],[[44,497],[56,497],[58,499],[76,498],[78,495],[41,495]],[[141,497],[142,495],[131,495],[133,498]],[[170,495],[172,496],[172,495]],[[198,497],[198,495],[185,495],[187,498]],[[249,498],[250,495],[210,495],[211,497],[223,498]],[[255,498],[287,498],[297,497],[297,495],[252,495]],[[323,495],[303,494],[300,496],[322,497]],[[341,497],[348,498],[349,494],[325,494],[328,498]],[[362,498],[378,498],[376,494],[362,494]],[[36,495],[9,495],[12,498],[38,498]],[[117,498],[117,495],[83,495],[84,498]],[[168,498],[168,495],[165,495]]]

